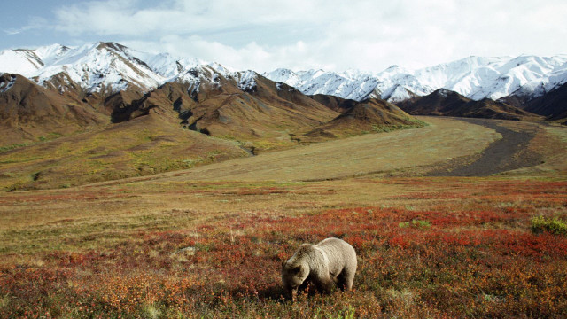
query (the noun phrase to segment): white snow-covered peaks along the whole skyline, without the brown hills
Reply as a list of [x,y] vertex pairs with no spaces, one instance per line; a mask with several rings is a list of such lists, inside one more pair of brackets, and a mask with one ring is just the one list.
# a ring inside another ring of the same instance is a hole
[[[118,43],[89,43],[76,48],[53,44],[35,50],[1,51],[0,73],[22,74],[60,92],[66,87],[80,87],[88,93],[150,91],[167,82],[189,82],[190,89],[198,92],[202,83],[218,85],[219,75],[234,79],[242,90],[250,90],[258,76],[253,71],[237,72],[196,58],[135,51]],[[356,101],[381,97],[396,103],[436,89],[450,89],[475,100],[510,95],[529,99],[567,82],[567,55],[469,57],[418,70],[391,66],[381,72],[293,72],[280,68],[263,75],[306,95]]]

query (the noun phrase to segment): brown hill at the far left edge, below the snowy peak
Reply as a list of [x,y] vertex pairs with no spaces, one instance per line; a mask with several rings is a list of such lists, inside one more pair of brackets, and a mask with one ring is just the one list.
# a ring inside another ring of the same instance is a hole
[[105,124],[108,117],[69,95],[19,74],[0,75],[0,144],[68,135]]

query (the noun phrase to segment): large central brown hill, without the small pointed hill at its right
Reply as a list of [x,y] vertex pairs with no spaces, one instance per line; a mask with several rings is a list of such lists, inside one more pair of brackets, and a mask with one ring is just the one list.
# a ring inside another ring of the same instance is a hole
[[256,150],[262,150],[294,145],[295,132],[338,116],[338,112],[299,90],[260,74],[254,74],[254,82],[244,89],[239,87],[240,79],[212,68],[194,68],[188,75],[198,84],[168,82],[129,105],[115,108],[113,121],[159,113],[175,125],[250,142]]

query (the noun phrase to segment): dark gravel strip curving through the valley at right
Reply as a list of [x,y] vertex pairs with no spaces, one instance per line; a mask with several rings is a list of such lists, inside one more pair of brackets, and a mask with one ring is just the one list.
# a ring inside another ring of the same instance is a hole
[[476,160],[461,163],[456,165],[456,168],[433,171],[429,176],[488,176],[540,164],[542,156],[528,150],[530,141],[536,135],[535,130],[515,131],[505,127],[504,122],[485,119],[462,121],[492,128],[501,134],[502,138],[489,144]]

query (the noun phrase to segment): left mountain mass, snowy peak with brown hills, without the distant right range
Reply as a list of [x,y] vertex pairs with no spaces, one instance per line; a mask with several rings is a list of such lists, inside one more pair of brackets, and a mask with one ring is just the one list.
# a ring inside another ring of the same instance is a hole
[[[368,101],[365,110],[384,116],[367,117],[366,126],[358,125],[356,116],[333,121],[347,110],[254,71],[148,54],[119,43],[2,51],[0,71],[2,144],[67,136],[144,115],[209,136],[250,142],[256,151],[313,140],[314,130],[324,131],[316,137],[321,140],[376,126],[418,123],[395,105]],[[340,103],[353,108],[361,102]]]

